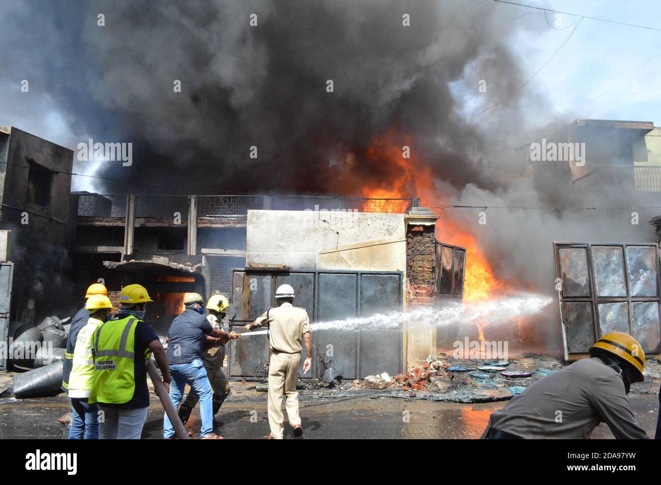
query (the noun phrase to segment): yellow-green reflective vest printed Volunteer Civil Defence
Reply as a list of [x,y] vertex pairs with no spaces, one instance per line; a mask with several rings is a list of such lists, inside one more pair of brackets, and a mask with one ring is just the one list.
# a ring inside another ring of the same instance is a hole
[[[102,324],[92,339],[94,383],[89,403],[124,404],[136,391],[134,356],[136,326],[141,321],[130,316]],[[151,351],[145,351],[145,366]]]

